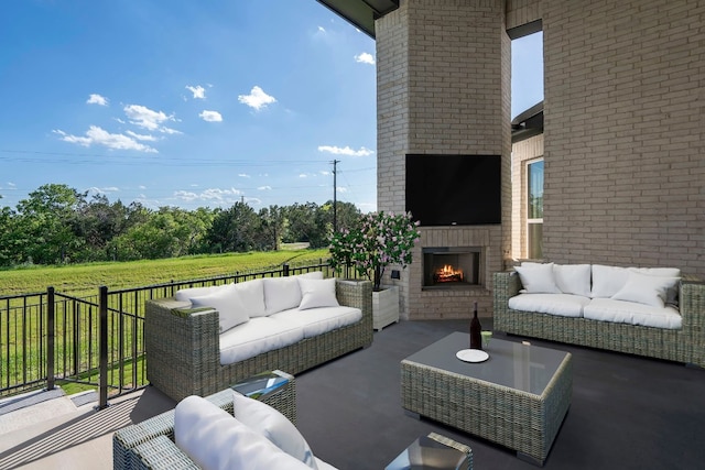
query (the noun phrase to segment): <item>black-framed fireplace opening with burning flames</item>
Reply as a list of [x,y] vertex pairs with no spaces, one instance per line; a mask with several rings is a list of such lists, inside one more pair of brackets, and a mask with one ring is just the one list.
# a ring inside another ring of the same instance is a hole
[[480,285],[481,252],[479,247],[424,248],[423,287],[462,288]]

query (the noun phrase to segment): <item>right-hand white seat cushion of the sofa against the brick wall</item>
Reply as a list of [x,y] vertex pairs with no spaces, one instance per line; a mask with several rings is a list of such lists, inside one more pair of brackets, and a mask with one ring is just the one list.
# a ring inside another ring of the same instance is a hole
[[673,307],[652,307],[611,298],[593,298],[583,309],[583,316],[592,320],[644,327],[679,329],[682,326],[681,315]]

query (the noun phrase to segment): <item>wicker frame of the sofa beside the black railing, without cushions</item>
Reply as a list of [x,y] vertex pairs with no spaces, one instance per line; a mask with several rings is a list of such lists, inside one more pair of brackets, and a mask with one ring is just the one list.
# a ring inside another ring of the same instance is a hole
[[[219,314],[191,308],[176,298],[147,300],[144,342],[150,383],[175,401],[206,396],[267,370],[296,374],[372,342],[372,286],[369,281],[335,280],[340,306],[361,310],[350,325],[223,364]],[[237,327],[236,327],[237,328]]]

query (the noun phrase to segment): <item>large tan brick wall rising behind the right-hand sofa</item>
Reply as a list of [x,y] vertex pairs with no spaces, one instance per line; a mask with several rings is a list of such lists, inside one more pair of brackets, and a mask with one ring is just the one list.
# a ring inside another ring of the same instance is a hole
[[705,2],[543,15],[545,258],[705,276]]

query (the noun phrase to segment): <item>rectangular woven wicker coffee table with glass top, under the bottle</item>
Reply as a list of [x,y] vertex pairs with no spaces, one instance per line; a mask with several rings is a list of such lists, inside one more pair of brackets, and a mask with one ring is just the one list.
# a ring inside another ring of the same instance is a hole
[[402,406],[542,466],[571,405],[571,353],[494,338],[471,363],[455,356],[468,343],[454,332],[404,359]]

